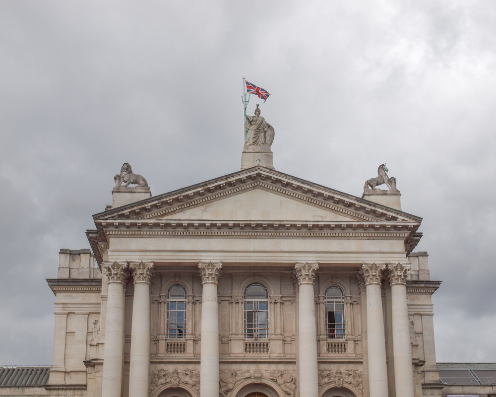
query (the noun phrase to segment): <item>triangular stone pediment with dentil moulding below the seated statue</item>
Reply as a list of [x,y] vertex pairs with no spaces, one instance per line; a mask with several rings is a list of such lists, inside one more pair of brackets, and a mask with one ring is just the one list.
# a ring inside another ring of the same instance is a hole
[[419,217],[254,167],[94,215],[97,220],[406,221]]

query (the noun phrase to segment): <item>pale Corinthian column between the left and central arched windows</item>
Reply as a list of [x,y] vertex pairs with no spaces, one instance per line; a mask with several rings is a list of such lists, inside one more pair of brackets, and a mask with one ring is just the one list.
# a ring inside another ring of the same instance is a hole
[[199,262],[201,294],[201,397],[219,397],[219,314],[217,285],[222,262]]

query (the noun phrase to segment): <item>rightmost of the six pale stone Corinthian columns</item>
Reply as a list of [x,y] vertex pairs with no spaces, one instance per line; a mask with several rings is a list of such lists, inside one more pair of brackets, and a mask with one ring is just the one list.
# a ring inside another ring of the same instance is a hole
[[388,264],[391,281],[393,323],[394,386],[396,396],[414,397],[412,347],[406,301],[406,275],[410,265]]

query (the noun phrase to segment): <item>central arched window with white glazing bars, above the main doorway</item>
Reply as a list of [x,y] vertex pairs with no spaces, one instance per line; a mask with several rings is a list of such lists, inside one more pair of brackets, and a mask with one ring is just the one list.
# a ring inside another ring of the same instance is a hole
[[267,289],[254,282],[245,290],[245,338],[269,337],[269,297]]

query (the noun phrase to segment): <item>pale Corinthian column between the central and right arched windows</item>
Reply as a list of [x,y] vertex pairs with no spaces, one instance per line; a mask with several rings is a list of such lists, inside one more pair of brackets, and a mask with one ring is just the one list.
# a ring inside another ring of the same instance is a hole
[[300,289],[299,296],[299,360],[300,397],[318,396],[317,330],[315,329],[315,302],[313,280],[318,263],[295,264],[294,277]]

